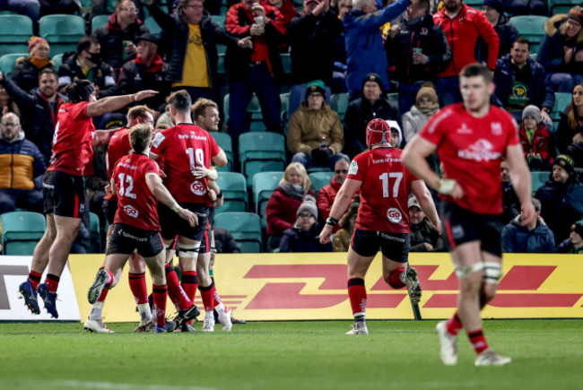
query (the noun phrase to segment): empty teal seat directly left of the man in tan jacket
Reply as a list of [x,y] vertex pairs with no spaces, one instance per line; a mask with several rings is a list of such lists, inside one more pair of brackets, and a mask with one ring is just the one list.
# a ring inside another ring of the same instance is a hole
[[282,134],[244,133],[239,135],[241,173],[248,180],[257,172],[285,169],[285,140]]

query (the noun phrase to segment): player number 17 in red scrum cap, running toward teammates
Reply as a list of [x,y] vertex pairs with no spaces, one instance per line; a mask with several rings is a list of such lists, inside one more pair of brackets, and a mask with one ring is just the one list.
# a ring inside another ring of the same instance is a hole
[[407,200],[410,191],[413,191],[430,221],[438,229],[440,225],[438,212],[425,183],[405,169],[401,162],[402,152],[391,146],[391,129],[387,121],[373,119],[366,132],[370,151],[362,152],[352,160],[348,176],[320,233],[321,243],[330,240],[335,224],[360,189],[361,206],[348,249],[348,298],[354,325],[346,334],[369,334],[365,322],[367,293],[364,276],[379,247],[385,282],[393,289],[406,286],[413,303],[421,299],[422,289],[417,272],[407,263],[410,247]]

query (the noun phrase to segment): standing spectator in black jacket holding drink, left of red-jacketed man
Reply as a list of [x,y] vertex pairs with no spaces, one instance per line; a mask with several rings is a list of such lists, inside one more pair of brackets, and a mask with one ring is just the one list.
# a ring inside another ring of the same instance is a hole
[[399,112],[405,114],[423,82],[436,83],[451,60],[448,39],[433,22],[430,0],[409,5],[405,21],[391,26],[385,51],[389,69],[394,69],[391,76],[399,82]]

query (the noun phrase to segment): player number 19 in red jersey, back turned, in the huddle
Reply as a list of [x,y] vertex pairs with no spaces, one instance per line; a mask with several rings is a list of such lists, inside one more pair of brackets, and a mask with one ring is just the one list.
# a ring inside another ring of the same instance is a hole
[[[208,195],[208,179],[217,178],[216,171],[210,169],[211,161],[223,167],[227,164],[227,156],[210,134],[193,124],[190,117],[192,100],[187,91],[173,92],[168,102],[170,117],[177,125],[156,134],[152,141],[152,154],[164,161],[164,172],[168,177],[164,182],[168,183],[170,194],[182,207],[196,213],[199,224],[191,228],[177,219],[168,207],[160,205],[162,237],[169,245],[178,234],[183,288],[188,298],[194,300],[198,282],[205,311],[203,331],[212,332],[213,295],[216,289],[209,275],[210,238],[206,234],[209,211],[213,206]],[[201,247],[203,239],[205,245]],[[223,313],[219,318],[223,330],[231,330],[231,316]]]

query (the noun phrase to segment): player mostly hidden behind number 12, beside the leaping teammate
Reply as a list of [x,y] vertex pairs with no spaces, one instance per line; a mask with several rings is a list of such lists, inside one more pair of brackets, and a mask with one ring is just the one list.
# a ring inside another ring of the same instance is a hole
[[[154,111],[144,105],[135,106],[127,111],[127,126],[121,126],[117,129],[114,134],[110,134],[110,131],[101,132],[98,130],[101,136],[100,142],[107,141],[105,138],[109,138],[109,146],[106,153],[106,167],[108,171],[108,180],[111,179],[113,174],[113,168],[117,160],[126,156],[131,152],[132,145],[129,142],[129,129],[135,125],[145,124],[149,126],[154,126]],[[103,134],[100,134],[103,133]],[[98,135],[96,135],[98,138]],[[107,143],[107,142],[106,142]],[[113,232],[113,220],[117,211],[117,196],[109,192],[105,195],[103,199],[103,213],[106,215],[109,222],[108,229],[108,240]],[[103,268],[105,264],[101,268]],[[152,322],[152,312],[150,311],[150,305],[148,304],[148,290],[145,284],[145,263],[142,256],[137,253],[132,254],[129,259],[129,287],[134,294],[135,303],[140,313],[140,325],[135,328],[135,332],[151,332],[154,328],[154,322]],[[101,318],[101,313],[103,310],[103,305],[105,299],[108,295],[108,289],[103,290],[100,298],[91,305],[91,314],[83,324],[83,328],[90,332],[96,333],[113,333],[109,330],[108,326],[103,323]]]

